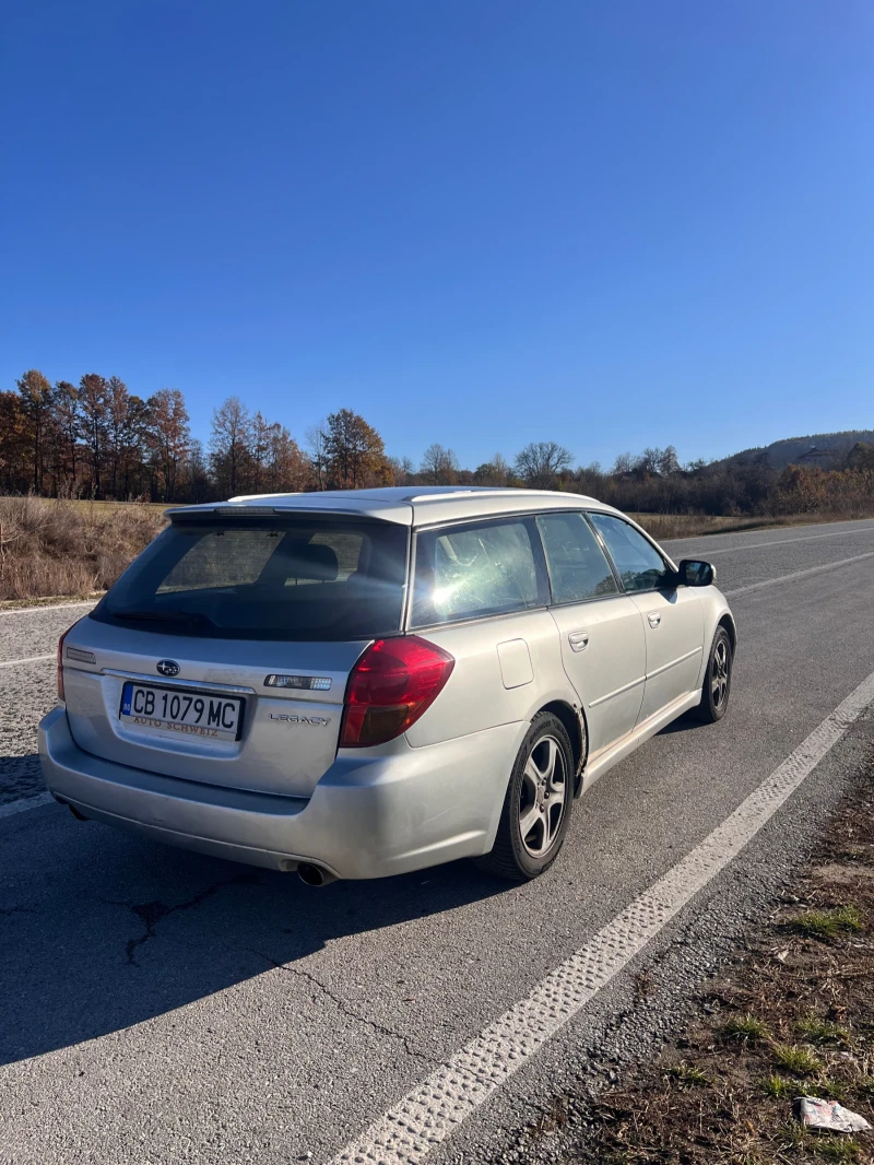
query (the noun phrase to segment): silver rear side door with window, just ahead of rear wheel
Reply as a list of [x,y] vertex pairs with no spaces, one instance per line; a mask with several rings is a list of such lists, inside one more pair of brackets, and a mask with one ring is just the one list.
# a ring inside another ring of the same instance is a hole
[[537,518],[562,659],[584,705],[590,756],[629,733],[643,699],[643,619],[622,594],[583,513]]

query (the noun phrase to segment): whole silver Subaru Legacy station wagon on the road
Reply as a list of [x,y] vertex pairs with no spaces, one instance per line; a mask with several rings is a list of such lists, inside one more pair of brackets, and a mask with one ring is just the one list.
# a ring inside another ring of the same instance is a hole
[[323,885],[475,857],[521,881],[573,800],[719,720],[713,567],[591,497],[235,497],[170,524],[58,644],[40,726],[77,817]]

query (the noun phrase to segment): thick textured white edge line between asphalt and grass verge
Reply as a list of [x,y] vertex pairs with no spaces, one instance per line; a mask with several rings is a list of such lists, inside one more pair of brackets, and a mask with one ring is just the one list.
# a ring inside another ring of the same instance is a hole
[[422,1162],[725,869],[872,701],[874,672],[700,845],[347,1145],[332,1165]]

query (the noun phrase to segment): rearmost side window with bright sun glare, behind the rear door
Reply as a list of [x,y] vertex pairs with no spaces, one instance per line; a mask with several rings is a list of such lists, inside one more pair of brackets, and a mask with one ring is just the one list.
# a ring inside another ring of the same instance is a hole
[[540,602],[529,522],[501,518],[418,535],[414,627],[524,610]]

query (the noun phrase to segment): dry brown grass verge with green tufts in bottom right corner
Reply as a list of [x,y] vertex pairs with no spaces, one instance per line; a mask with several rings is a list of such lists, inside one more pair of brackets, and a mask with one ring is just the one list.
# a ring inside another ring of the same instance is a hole
[[707,991],[700,1018],[588,1108],[563,1162],[874,1162],[874,1134],[817,1134],[792,1116],[792,1097],[808,1094],[874,1123],[872,776],[746,959]]

